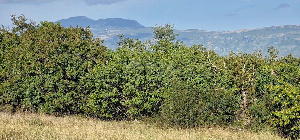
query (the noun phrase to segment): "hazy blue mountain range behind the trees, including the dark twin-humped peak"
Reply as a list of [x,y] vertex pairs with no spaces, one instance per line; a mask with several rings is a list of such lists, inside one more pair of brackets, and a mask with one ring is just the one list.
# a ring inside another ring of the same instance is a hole
[[[116,49],[119,37],[139,39],[141,41],[151,40],[154,35],[151,27],[144,27],[135,20],[109,18],[92,20],[85,16],[71,17],[58,20],[64,27],[87,27],[91,26],[94,37],[104,40],[107,48]],[[57,23],[55,22],[55,23]],[[187,46],[203,44],[208,47],[213,42],[212,48],[220,55],[228,55],[230,51],[253,53],[262,49],[267,55],[268,47],[274,46],[279,50],[279,56],[291,53],[300,56],[300,25],[281,25],[258,29],[244,29],[238,31],[204,31],[204,30],[174,30],[179,36],[177,39]]]

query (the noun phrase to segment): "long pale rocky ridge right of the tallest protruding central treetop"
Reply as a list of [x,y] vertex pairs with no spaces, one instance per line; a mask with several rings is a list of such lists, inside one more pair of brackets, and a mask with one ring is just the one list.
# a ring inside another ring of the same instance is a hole
[[282,25],[259,29],[245,29],[238,31],[201,31],[179,30],[179,39],[186,45],[203,44],[208,46],[213,42],[212,49],[220,55],[227,55],[230,51],[253,53],[262,49],[268,55],[268,47],[274,46],[279,50],[279,56],[292,54],[300,56],[300,25]]

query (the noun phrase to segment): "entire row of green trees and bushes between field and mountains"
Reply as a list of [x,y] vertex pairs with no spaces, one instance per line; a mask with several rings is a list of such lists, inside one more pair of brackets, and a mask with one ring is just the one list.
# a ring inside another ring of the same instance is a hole
[[300,58],[260,50],[219,56],[185,46],[174,25],[155,26],[153,40],[120,35],[113,51],[90,28],[12,16],[0,29],[0,105],[101,119],[152,117],[165,126],[266,127],[300,133]]

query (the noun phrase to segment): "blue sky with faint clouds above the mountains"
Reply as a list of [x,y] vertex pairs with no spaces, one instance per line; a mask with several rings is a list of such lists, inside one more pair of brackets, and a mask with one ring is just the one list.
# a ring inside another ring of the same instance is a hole
[[0,0],[0,25],[10,15],[55,22],[75,16],[123,18],[146,27],[235,31],[278,25],[300,25],[300,0]]

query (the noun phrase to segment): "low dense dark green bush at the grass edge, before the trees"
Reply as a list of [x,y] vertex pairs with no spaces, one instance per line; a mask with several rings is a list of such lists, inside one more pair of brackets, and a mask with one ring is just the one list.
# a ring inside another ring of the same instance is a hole
[[174,83],[161,119],[165,126],[227,125],[233,120],[232,99],[223,90],[205,91]]

